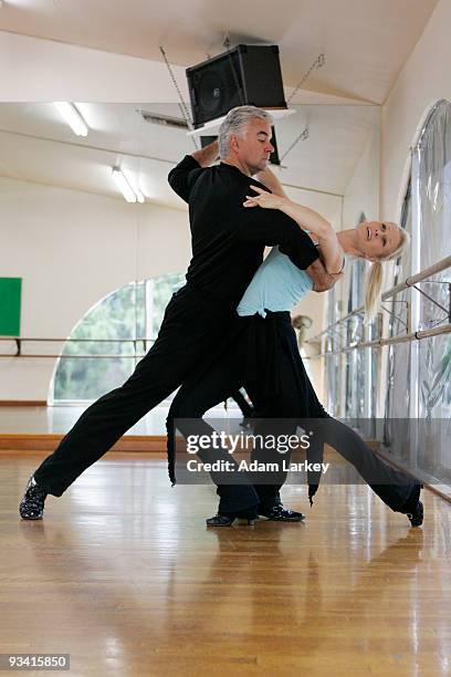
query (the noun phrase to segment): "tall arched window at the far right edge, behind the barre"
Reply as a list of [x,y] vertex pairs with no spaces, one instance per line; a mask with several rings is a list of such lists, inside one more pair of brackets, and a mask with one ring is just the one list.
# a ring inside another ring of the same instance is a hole
[[[451,254],[451,103],[440,101],[430,112],[412,160],[416,178],[413,237],[420,270]],[[412,188],[413,190],[413,188]],[[432,275],[416,295],[420,329],[432,329],[449,322],[450,269]],[[413,295],[412,295],[413,300]],[[439,481],[451,481],[451,335],[420,341],[412,360],[412,379],[418,383],[416,414],[428,425],[419,430],[418,465]]]

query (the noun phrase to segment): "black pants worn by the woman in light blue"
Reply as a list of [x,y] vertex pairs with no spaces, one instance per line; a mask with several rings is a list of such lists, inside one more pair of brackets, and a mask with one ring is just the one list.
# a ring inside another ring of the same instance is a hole
[[[248,392],[253,390],[252,398],[264,395],[258,408],[265,416],[280,417],[279,433],[293,434],[298,423],[303,427],[307,423],[308,431],[313,433],[314,455],[321,456],[324,444],[331,445],[389,508],[396,512],[412,511],[420,492],[419,482],[385,464],[352,428],[329,417],[322,407],[298,353],[290,313],[269,313],[266,320],[255,315],[241,322],[239,340],[218,355],[201,377],[185,383],[174,399],[167,419],[170,461],[174,419],[203,416],[229,393],[245,385]],[[208,428],[204,433],[208,434]],[[253,486],[260,502],[268,504],[276,497],[285,476],[276,479],[279,483],[272,486]],[[231,506],[221,499],[220,511],[230,510]]]

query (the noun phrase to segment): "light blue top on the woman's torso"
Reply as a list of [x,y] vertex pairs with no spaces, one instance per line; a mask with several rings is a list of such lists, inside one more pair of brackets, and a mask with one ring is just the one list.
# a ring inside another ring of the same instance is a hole
[[279,247],[273,247],[252,278],[237,312],[241,316],[259,313],[265,317],[264,309],[291,311],[312,290],[313,281],[305,270],[300,270]]

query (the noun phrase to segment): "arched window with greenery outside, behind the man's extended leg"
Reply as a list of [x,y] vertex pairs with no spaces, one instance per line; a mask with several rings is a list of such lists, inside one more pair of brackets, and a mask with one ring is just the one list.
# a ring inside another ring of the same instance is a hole
[[50,400],[97,399],[122,385],[153,345],[165,308],[183,283],[181,273],[130,282],[96,303],[63,347]]

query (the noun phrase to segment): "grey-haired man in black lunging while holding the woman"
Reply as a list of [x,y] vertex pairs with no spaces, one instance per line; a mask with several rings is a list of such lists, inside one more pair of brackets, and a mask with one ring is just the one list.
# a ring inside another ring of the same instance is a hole
[[[279,244],[306,270],[317,291],[334,280],[318,260],[311,239],[289,217],[243,208],[251,177],[268,165],[271,117],[254,106],[234,108],[219,137],[221,162],[212,144],[186,156],[169,174],[174,190],[189,202],[192,259],[187,284],[169,302],[148,354],[126,383],[84,412],[55,451],[30,478],[20,504],[23,519],[41,519],[48,493],[61,496],[137,420],[168,397],[208,358],[233,323],[235,308],[263,258]],[[222,488],[224,503],[255,504],[249,487]]]

